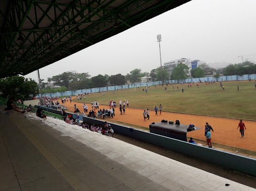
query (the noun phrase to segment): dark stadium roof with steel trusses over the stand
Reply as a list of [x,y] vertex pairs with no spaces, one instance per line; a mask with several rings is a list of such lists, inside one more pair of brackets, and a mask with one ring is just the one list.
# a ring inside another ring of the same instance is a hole
[[2,0],[0,78],[26,75],[189,1]]

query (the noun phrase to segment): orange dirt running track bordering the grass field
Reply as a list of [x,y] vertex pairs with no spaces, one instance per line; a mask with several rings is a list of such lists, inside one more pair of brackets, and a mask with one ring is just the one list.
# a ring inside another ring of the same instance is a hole
[[[73,97],[74,99],[75,97]],[[61,103],[61,100],[58,100]],[[83,111],[83,103],[77,102],[66,102],[64,105],[69,109],[69,111],[74,111],[74,104],[76,107],[82,112]],[[88,106],[88,112],[91,110],[91,104],[85,103]],[[186,115],[186,114],[175,114],[169,112],[162,112],[161,115],[155,115],[155,111],[149,111],[150,118],[149,120],[143,119],[143,110],[141,109],[133,109],[126,108],[125,115],[120,115],[119,112],[119,103],[117,103],[117,108],[115,109],[115,116],[112,120],[124,122],[127,124],[137,125],[141,127],[146,127],[149,129],[149,124],[152,122],[161,122],[163,119],[168,121],[179,120],[181,124],[189,125],[193,124],[196,127],[200,127],[201,129],[188,132],[187,137],[193,137],[195,139],[206,140],[204,137],[204,125],[206,122],[209,123],[214,129],[212,132],[212,143],[219,143],[223,145],[228,145],[232,147],[238,147],[246,150],[256,151],[256,144],[254,141],[256,140],[256,133],[254,132],[256,122],[251,121],[243,121],[245,124],[246,130],[244,133],[244,138],[241,138],[241,134],[238,130],[236,130],[239,120],[234,119],[225,119],[225,118],[217,118],[217,117],[207,117],[207,116],[196,116],[196,115]],[[132,106],[132,103],[129,103],[129,107]],[[163,106],[164,108],[165,106]],[[108,109],[109,106],[100,105],[99,109]],[[145,108],[146,109],[146,108]],[[96,112],[98,110],[95,110]],[[87,113],[88,114],[88,113]],[[87,115],[86,114],[86,115]],[[102,119],[101,119],[102,120]]]

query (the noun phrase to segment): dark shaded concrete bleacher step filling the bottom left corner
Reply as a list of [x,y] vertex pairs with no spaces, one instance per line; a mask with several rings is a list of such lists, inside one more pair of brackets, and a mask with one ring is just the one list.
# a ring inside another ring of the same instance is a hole
[[0,124],[0,190],[75,190],[9,116]]

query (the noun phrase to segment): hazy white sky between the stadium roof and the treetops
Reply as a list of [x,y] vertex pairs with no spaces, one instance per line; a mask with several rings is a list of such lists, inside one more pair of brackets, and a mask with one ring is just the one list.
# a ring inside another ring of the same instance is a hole
[[[207,63],[256,61],[256,0],[192,0],[123,33],[45,66],[41,79],[75,70],[126,75],[160,66],[157,35],[162,35],[162,63],[199,59]],[[216,65],[220,67],[219,65]],[[212,65],[214,67],[214,65]],[[25,75],[36,79],[36,71]]]

